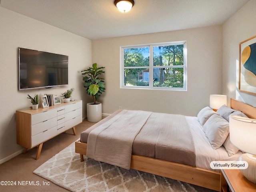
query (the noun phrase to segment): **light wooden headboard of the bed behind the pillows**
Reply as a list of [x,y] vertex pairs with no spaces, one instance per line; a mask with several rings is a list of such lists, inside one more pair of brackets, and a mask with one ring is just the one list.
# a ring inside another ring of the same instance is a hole
[[232,109],[238,110],[246,114],[249,118],[256,119],[256,108],[246,103],[231,99],[230,105]]

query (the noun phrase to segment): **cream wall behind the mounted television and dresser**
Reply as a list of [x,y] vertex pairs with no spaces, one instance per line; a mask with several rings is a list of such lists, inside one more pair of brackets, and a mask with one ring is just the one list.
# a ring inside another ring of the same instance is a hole
[[[18,91],[18,47],[69,56],[69,85]],[[31,106],[27,94],[58,94],[74,88],[74,99],[83,99],[81,70],[92,64],[91,40],[60,30],[0,7],[0,162],[20,151],[16,144],[16,110]],[[84,114],[85,116],[86,114]]]

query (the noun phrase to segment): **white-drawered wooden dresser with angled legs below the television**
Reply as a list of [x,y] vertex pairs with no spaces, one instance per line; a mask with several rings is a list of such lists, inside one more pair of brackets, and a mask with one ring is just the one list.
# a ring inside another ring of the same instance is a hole
[[30,108],[16,111],[17,143],[24,147],[24,153],[38,147],[36,160],[40,157],[42,145],[47,140],[82,122],[82,100],[50,106],[48,108]]

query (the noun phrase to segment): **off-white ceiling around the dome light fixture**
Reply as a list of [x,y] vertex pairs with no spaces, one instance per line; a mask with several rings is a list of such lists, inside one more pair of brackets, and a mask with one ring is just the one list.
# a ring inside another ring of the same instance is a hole
[[95,40],[223,24],[249,0],[0,0],[0,6]]

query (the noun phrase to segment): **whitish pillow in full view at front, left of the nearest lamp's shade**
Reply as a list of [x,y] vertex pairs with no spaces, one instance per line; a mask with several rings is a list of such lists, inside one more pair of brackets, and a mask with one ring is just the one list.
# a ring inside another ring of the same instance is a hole
[[217,149],[222,146],[229,134],[229,123],[218,114],[214,114],[206,121],[203,130],[212,148]]

